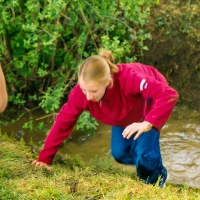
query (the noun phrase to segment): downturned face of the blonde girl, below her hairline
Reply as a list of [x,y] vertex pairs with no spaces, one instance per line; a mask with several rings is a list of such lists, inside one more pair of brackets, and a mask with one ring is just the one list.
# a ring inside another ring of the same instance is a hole
[[106,91],[106,88],[111,83],[111,80],[106,81],[105,83],[99,83],[96,81],[85,82],[83,79],[79,80],[80,88],[85,94],[88,101],[99,102]]

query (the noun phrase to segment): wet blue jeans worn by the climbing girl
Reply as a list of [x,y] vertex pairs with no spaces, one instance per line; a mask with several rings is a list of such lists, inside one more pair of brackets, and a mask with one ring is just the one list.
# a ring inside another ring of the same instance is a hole
[[125,139],[124,128],[113,126],[111,154],[119,163],[135,165],[137,176],[147,184],[155,184],[164,168],[160,153],[160,133],[151,129],[140,135],[137,140]]

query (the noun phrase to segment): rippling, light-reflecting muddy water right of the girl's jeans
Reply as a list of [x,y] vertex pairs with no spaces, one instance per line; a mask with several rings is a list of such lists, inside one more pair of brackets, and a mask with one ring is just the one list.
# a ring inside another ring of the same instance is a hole
[[200,188],[200,113],[176,109],[162,131],[169,182]]

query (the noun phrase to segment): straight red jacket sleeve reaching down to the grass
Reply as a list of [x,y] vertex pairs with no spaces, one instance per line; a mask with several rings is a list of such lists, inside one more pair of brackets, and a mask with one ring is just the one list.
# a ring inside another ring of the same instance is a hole
[[86,109],[84,95],[76,86],[69,95],[68,102],[61,108],[53,124],[38,161],[51,164],[60,145],[72,132],[79,115]]

